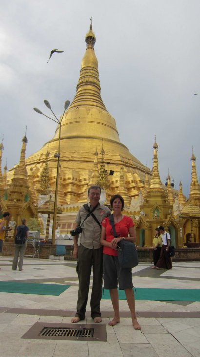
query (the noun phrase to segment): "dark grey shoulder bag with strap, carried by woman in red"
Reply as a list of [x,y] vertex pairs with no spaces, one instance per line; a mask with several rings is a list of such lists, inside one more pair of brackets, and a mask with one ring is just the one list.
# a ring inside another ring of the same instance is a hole
[[[113,214],[110,215],[109,221],[113,229],[113,236],[117,238]],[[134,268],[138,265],[138,253],[133,242],[121,240],[118,243],[118,262],[121,268]]]

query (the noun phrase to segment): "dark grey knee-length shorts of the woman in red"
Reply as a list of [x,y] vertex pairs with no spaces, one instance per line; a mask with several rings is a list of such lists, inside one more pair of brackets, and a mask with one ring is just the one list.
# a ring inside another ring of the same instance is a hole
[[105,289],[125,290],[133,287],[131,268],[121,268],[118,257],[103,254],[103,280]]

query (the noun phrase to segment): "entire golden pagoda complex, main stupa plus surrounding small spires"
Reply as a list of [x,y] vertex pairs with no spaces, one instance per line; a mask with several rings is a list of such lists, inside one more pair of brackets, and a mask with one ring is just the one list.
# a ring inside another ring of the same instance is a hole
[[[137,245],[151,246],[154,230],[164,225],[175,247],[200,242],[200,184],[196,158],[192,152],[192,181],[189,200],[174,190],[168,174],[165,185],[160,180],[158,145],[153,144],[153,167],[150,171],[120,142],[115,119],[107,111],[101,95],[98,61],[94,52],[95,35],[86,34],[76,95],[61,124],[60,170],[57,216],[61,234],[73,228],[76,213],[87,200],[88,186],[99,184],[105,200],[119,193],[124,197],[124,214],[136,225]],[[127,128],[130,130],[130,128]],[[41,198],[48,202],[55,192],[59,126],[55,136],[25,159],[27,138],[22,139],[20,162],[6,175],[1,171],[3,144],[0,145],[0,214],[10,211],[19,224],[21,216],[37,216]],[[109,175],[109,173],[111,173]],[[50,217],[49,217],[50,221]]]

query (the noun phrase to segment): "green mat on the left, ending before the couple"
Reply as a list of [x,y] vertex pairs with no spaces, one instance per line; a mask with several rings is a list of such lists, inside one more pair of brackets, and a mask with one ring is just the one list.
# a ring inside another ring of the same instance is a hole
[[71,285],[0,282],[0,292],[13,292],[17,294],[60,295]]

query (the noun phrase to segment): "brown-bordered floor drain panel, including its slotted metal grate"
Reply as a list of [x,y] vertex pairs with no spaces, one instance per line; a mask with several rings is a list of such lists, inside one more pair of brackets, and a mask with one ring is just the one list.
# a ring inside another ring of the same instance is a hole
[[21,338],[71,341],[107,341],[103,324],[55,324],[36,322]]

